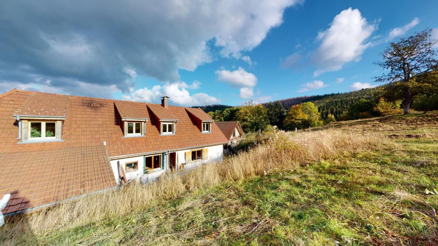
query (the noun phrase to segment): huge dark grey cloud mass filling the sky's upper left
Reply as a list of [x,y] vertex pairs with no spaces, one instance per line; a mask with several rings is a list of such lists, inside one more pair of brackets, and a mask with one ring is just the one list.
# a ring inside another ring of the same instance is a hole
[[179,69],[211,62],[212,49],[224,57],[254,49],[282,23],[284,10],[300,2],[5,1],[0,82],[38,84],[35,75],[73,94],[84,92],[79,83],[127,93],[133,76],[174,83]]

